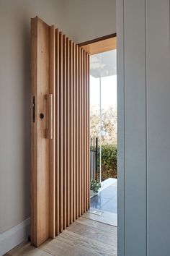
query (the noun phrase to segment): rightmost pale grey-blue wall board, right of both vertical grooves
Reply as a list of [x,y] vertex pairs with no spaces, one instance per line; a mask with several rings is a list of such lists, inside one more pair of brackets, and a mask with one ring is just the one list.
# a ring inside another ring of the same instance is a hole
[[170,255],[169,0],[146,1],[148,256]]

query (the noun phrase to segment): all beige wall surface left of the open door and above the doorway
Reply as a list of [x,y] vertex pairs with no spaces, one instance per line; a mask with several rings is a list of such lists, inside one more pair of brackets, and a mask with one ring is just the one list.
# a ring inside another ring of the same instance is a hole
[[0,0],[0,233],[30,217],[30,18],[75,43],[115,33],[115,0]]

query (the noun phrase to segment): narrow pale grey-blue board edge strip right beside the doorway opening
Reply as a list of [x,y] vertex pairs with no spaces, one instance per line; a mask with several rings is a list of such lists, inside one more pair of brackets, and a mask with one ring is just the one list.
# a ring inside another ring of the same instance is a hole
[[125,255],[125,121],[124,121],[124,17],[123,0],[117,1],[117,253]]

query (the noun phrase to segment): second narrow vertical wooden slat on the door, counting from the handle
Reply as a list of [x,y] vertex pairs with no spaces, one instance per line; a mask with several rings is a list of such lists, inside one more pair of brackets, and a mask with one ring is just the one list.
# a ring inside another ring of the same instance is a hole
[[60,161],[59,161],[59,181],[60,181],[60,197],[59,197],[59,221],[60,221],[60,232],[63,231],[63,35],[59,33],[59,144],[60,144]]

